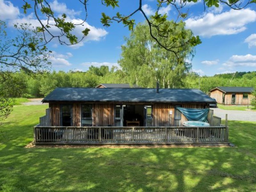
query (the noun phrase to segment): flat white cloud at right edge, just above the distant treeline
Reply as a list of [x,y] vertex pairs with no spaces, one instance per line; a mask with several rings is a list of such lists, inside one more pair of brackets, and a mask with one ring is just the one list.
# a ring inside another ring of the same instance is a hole
[[223,63],[223,65],[228,67],[256,67],[256,55],[233,55],[227,62]]

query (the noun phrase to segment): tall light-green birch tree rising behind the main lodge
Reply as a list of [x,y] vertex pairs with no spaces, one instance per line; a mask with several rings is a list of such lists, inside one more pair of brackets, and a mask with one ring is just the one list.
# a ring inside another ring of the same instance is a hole
[[[176,38],[176,46],[191,38],[192,32],[185,29],[184,22],[176,24],[173,21],[166,22],[169,28],[176,26],[172,30],[172,35],[169,35],[169,37]],[[121,59],[118,63],[127,76],[128,82],[142,87],[153,87],[156,81],[159,81],[163,88],[183,86],[186,73],[191,69],[191,63],[187,60],[193,57],[193,46],[186,44],[175,55],[156,44],[148,30],[146,23],[140,23],[130,36],[125,38],[126,44],[122,45]],[[153,30],[152,33],[155,34],[157,31]],[[166,42],[164,37],[159,38],[159,41]]]

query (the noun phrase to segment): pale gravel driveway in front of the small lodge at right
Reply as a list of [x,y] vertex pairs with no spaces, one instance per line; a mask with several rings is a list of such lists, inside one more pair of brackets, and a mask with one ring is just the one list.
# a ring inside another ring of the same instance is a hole
[[256,121],[256,111],[239,111],[239,110],[224,110],[220,108],[213,109],[213,114],[215,116],[221,117],[221,119],[226,118],[228,114],[228,120],[235,121]]

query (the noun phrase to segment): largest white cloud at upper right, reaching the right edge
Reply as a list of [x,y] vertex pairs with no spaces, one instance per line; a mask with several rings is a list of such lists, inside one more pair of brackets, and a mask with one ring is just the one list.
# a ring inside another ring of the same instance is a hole
[[246,29],[245,25],[256,20],[256,12],[251,9],[230,10],[221,14],[207,13],[201,17],[186,20],[186,28],[194,34],[211,37],[214,35],[237,34]]

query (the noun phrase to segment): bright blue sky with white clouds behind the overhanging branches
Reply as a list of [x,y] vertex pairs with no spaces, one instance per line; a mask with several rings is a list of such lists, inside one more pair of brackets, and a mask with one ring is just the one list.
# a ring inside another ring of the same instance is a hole
[[[79,22],[84,18],[83,7],[75,0],[49,0],[55,13],[67,13],[68,19]],[[53,51],[52,69],[55,70],[81,70],[86,71],[91,65],[117,66],[121,55],[121,45],[124,36],[130,31],[122,24],[112,23],[108,28],[100,23],[101,12],[114,15],[116,12],[129,14],[138,7],[139,0],[120,0],[119,8],[112,9],[101,5],[101,1],[88,2],[88,18],[85,26],[90,28],[89,35],[75,46],[65,46],[53,41],[48,48]],[[7,32],[15,34],[13,23],[30,22],[38,25],[35,15],[28,11],[23,14],[21,6],[23,1],[0,0],[0,19],[7,23]],[[154,14],[156,0],[143,0],[143,10]],[[186,27],[194,35],[199,35],[202,44],[196,46],[196,54],[192,63],[192,70],[201,75],[212,76],[217,73],[234,71],[256,71],[256,6],[248,6],[236,11],[225,5],[219,8],[206,8],[202,0],[198,3],[187,4],[188,17],[185,19]],[[185,9],[184,9],[185,11]],[[168,19],[176,19],[177,11],[173,6],[164,6],[161,13],[167,13]],[[140,12],[133,17],[136,22],[143,22]],[[75,30],[78,36],[83,28]]]

